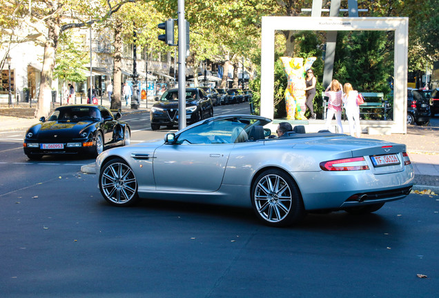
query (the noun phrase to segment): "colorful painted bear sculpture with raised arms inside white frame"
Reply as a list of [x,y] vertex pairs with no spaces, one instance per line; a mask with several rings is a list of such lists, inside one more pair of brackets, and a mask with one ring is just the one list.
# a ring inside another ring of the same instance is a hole
[[315,57],[306,59],[305,66],[303,58],[280,57],[286,77],[288,77],[288,85],[285,90],[285,106],[287,120],[306,120],[305,117],[305,72],[309,70],[315,61]]

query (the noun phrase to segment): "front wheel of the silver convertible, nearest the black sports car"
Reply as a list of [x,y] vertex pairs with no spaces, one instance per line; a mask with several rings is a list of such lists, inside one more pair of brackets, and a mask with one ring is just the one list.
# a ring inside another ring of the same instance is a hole
[[99,190],[113,206],[131,206],[139,200],[137,179],[123,159],[111,159],[101,167]]

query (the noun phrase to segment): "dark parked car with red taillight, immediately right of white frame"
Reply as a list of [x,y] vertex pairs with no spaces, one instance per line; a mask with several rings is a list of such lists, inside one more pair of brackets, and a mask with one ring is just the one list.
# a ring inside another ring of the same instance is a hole
[[425,125],[431,117],[430,103],[418,89],[407,90],[407,124]]

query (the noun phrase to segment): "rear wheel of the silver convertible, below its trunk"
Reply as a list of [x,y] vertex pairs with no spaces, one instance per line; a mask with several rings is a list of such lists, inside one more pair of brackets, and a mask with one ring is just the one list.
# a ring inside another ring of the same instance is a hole
[[267,226],[291,226],[305,215],[295,182],[277,169],[266,170],[257,176],[251,187],[251,203],[257,217]]

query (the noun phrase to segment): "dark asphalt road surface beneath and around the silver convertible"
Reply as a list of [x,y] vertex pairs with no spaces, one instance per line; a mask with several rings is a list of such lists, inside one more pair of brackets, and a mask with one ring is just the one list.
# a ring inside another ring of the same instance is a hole
[[[166,133],[147,118],[125,118],[133,141]],[[28,161],[14,134],[0,134],[0,297],[437,297],[437,196],[292,228],[230,207],[115,208],[79,171],[91,159]]]

